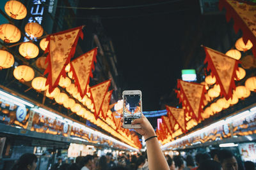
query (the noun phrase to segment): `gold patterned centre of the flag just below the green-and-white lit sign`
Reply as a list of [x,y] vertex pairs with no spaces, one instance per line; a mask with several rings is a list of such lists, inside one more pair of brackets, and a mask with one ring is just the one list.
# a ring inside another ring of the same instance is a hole
[[[187,81],[181,80],[179,80],[179,82],[193,110],[193,113],[196,116],[196,119],[198,119],[200,114],[200,101],[202,98],[202,93],[204,91],[204,85],[189,83]],[[187,110],[189,111],[189,107],[187,107]]]

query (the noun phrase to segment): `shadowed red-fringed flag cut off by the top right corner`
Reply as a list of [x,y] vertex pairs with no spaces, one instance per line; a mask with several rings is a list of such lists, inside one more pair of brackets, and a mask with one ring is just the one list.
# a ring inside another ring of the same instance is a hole
[[236,33],[241,29],[243,32],[244,44],[250,39],[253,44],[252,52],[256,57],[256,3],[250,1],[220,0],[219,8],[226,8],[226,18],[229,22],[230,18],[234,20],[234,30]]

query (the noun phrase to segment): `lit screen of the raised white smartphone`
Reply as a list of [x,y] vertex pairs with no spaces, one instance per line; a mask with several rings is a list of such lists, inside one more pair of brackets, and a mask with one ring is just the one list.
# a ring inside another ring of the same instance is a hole
[[124,124],[131,124],[136,118],[141,118],[140,94],[124,95]]

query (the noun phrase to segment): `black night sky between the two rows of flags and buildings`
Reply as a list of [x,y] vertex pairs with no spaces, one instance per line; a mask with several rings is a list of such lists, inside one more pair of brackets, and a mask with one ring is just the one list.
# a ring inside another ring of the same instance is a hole
[[[146,6],[137,7],[143,4]],[[106,34],[113,41],[122,90],[141,90],[143,111],[160,110],[160,97],[175,88],[184,68],[180,46],[188,36],[185,31],[200,16],[199,0],[95,0],[86,6],[129,6],[90,12],[102,17]]]

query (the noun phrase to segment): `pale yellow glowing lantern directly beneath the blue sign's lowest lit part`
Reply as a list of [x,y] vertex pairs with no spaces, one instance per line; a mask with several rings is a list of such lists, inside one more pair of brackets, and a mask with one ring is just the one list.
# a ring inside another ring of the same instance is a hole
[[36,45],[30,42],[22,43],[19,47],[20,55],[26,59],[33,59],[37,57],[39,49]]

